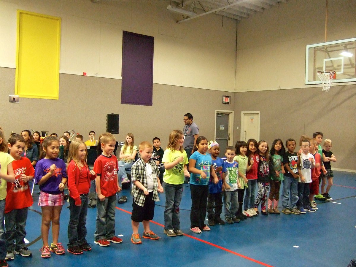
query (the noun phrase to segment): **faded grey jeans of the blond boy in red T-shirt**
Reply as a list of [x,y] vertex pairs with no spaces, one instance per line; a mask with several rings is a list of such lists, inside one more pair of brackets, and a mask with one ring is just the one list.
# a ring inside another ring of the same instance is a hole
[[115,206],[116,194],[106,197],[103,201],[96,196],[95,241],[115,236]]

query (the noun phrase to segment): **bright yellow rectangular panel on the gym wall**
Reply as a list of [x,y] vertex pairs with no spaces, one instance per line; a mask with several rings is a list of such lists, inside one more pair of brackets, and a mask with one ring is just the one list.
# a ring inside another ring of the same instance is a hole
[[15,93],[58,99],[61,19],[18,10]]

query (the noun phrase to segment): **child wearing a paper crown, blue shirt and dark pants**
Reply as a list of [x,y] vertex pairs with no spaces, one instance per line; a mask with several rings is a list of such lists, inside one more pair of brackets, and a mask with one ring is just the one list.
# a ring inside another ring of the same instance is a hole
[[208,224],[214,226],[215,224],[225,224],[225,222],[220,218],[221,210],[223,208],[223,159],[219,158],[220,147],[215,140],[211,140],[208,145],[211,164],[214,167],[216,176],[218,176],[219,182],[214,183],[214,178],[210,176],[209,179],[209,194],[208,194]]

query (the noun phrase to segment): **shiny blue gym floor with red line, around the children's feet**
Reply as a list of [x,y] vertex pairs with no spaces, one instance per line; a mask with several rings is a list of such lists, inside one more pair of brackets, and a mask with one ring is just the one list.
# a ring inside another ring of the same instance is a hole
[[[329,194],[335,203],[318,201],[315,213],[302,215],[258,215],[238,224],[211,226],[211,231],[195,234],[190,226],[190,189],[184,185],[180,204],[180,225],[184,236],[163,234],[165,197],[156,203],[151,229],[161,238],[142,239],[141,245],[131,243],[132,198],[123,190],[128,201],[116,204],[116,235],[121,244],[100,247],[94,244],[96,208],[88,209],[87,239],[93,249],[83,255],[55,255],[42,259],[41,209],[38,187],[33,192],[34,204],[28,212],[27,236],[32,257],[15,256],[10,266],[347,266],[356,258],[356,173],[334,171],[334,186]],[[61,213],[59,242],[67,249],[69,209],[65,203]],[[281,203],[279,203],[281,206]],[[221,214],[224,218],[224,214]],[[140,234],[143,228],[140,225]],[[122,236],[121,236],[122,235]],[[51,232],[49,234],[51,242]],[[298,246],[298,247],[294,247]]]

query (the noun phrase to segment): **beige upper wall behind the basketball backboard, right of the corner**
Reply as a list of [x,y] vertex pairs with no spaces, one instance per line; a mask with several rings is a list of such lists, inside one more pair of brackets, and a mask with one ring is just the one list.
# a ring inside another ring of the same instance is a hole
[[[311,87],[304,85],[305,46],[325,42],[325,3],[288,0],[240,21],[236,90]],[[329,0],[326,41],[356,37],[355,14],[355,0]]]

